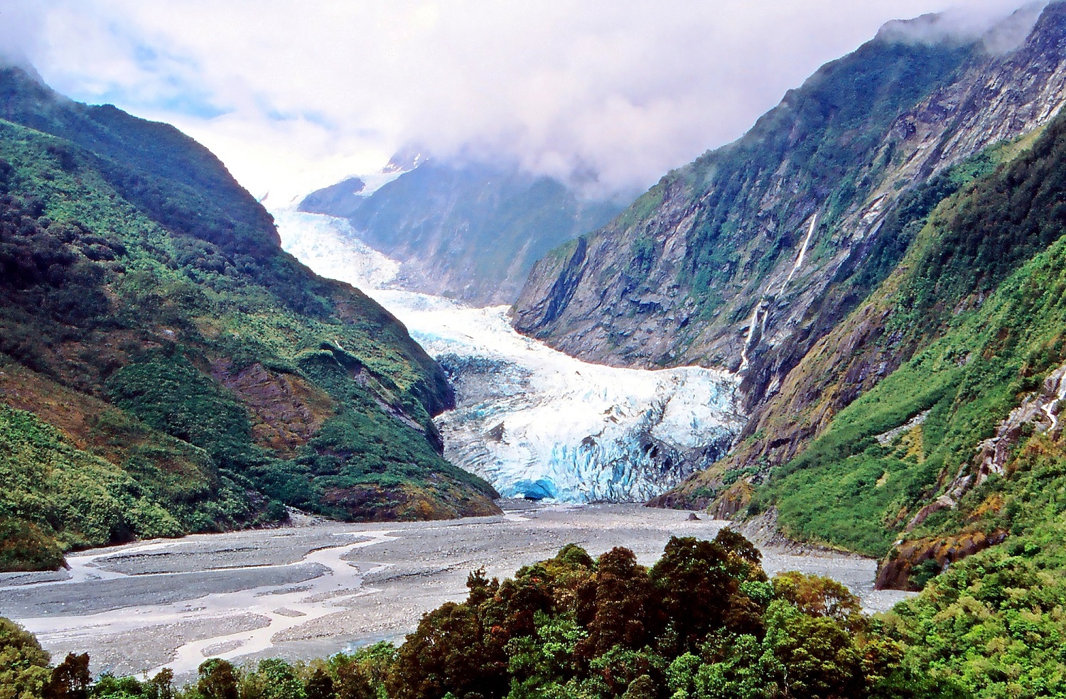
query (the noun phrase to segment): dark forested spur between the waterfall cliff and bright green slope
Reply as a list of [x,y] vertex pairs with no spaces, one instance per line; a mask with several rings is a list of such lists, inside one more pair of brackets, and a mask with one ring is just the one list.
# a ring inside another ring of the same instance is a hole
[[[990,175],[990,165],[1017,159],[997,184],[978,185],[963,208],[951,205],[930,216],[930,226],[914,235],[900,265],[820,338],[755,410],[729,458],[667,501],[683,502],[728,470],[765,472],[796,458],[856,397],[927,347],[960,314],[980,309],[1007,274],[1059,234],[1050,212],[1061,196],[1055,175],[1061,139],[1060,120],[1021,141],[994,146],[923,185],[935,199],[949,191],[936,184],[938,179]],[[959,194],[965,193],[964,188]]]

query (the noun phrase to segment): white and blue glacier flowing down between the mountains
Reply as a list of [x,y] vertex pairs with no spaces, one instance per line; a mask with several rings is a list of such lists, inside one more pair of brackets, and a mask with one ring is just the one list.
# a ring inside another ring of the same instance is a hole
[[273,213],[286,250],[361,289],[440,362],[456,393],[436,420],[445,457],[503,497],[643,502],[724,456],[744,424],[734,374],[575,359],[516,332],[507,306],[397,288],[399,264],[343,220]]

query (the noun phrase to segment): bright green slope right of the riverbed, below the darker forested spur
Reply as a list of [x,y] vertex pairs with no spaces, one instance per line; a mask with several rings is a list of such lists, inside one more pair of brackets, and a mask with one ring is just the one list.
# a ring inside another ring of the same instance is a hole
[[[798,458],[773,472],[756,508],[774,503],[787,532],[883,556],[910,516],[974,459],[1021,396],[1066,359],[1066,241],[1011,277],[982,309],[845,408]],[[875,435],[928,410],[921,449]],[[1039,439],[1044,439],[1040,437]],[[1044,464],[1037,469],[1057,467]],[[1037,476],[1039,477],[1039,476]],[[1006,498],[980,516],[991,491]],[[968,493],[958,510],[931,518],[912,537],[992,532],[1060,513],[1012,508],[1029,487],[1013,473]]]

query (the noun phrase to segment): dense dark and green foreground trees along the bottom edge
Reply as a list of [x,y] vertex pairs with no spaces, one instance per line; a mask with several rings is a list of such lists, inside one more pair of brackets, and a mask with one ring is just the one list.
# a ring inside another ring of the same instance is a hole
[[[1054,537],[1061,537],[1059,532]],[[1066,696],[1062,602],[1032,539],[982,555],[888,614],[841,584],[786,572],[723,530],[673,538],[650,568],[568,544],[513,579],[473,571],[469,595],[395,648],[247,666],[211,659],[182,687],[103,676],[0,620],[0,697],[19,699],[900,699]],[[1051,583],[1048,585],[1048,583]]]

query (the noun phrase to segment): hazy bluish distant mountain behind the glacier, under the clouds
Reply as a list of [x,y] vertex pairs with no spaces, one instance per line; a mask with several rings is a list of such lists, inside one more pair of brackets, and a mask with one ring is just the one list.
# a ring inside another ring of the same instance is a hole
[[498,164],[431,159],[370,193],[362,185],[313,192],[300,209],[346,218],[362,242],[401,262],[397,286],[481,305],[513,303],[537,259],[623,208]]

